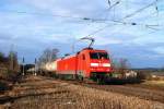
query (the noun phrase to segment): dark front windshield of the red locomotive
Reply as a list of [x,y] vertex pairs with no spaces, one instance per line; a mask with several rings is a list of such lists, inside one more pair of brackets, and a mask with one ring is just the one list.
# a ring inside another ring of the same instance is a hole
[[91,52],[91,59],[109,59],[107,52]]

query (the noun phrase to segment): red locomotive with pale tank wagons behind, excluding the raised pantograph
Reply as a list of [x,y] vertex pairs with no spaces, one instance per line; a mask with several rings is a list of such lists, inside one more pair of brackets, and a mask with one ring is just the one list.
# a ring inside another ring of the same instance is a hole
[[67,56],[43,66],[56,77],[103,82],[112,75],[113,69],[106,50],[85,48],[75,55]]

